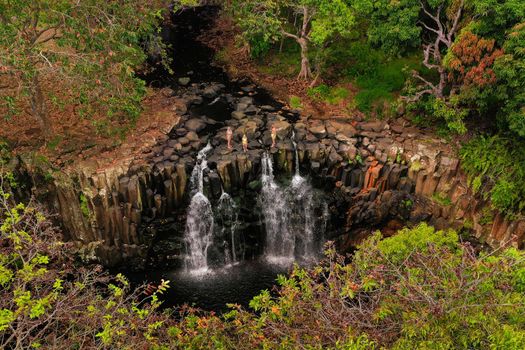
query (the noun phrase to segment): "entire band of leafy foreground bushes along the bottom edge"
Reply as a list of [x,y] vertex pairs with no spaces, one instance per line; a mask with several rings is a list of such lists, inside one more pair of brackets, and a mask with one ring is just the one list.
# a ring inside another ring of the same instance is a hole
[[[525,254],[477,256],[422,224],[278,278],[223,315],[160,310],[159,294],[76,267],[32,205],[0,196],[0,347],[6,349],[523,349]],[[176,283],[173,281],[172,283]]]

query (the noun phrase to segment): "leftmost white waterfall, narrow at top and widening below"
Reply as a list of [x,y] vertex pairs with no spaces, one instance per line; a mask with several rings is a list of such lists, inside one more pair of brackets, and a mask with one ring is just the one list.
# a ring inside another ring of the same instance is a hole
[[208,269],[208,248],[213,241],[213,211],[203,189],[204,170],[207,168],[206,156],[211,149],[211,145],[208,144],[197,155],[197,162],[190,180],[193,197],[186,217],[186,266],[198,272]]

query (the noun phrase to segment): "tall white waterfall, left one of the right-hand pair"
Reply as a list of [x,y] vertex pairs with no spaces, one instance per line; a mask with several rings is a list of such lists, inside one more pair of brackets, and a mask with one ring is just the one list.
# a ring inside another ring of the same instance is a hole
[[285,192],[275,183],[273,164],[268,154],[262,158],[261,206],[266,227],[265,254],[274,262],[294,258],[295,237],[289,225],[289,205]]

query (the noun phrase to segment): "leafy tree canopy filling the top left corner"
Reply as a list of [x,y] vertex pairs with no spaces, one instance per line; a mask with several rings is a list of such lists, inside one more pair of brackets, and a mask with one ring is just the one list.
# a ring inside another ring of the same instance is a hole
[[50,103],[135,118],[145,89],[134,68],[160,17],[152,1],[0,0],[2,112],[31,114],[46,136]]

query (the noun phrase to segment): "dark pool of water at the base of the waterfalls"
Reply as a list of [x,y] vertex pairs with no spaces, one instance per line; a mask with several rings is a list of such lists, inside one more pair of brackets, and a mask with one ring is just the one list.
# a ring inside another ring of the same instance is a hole
[[261,290],[272,290],[279,274],[289,271],[289,266],[259,259],[206,273],[157,270],[128,273],[127,276],[133,284],[158,284],[161,279],[169,280],[170,288],[162,297],[166,307],[188,304],[207,311],[224,312],[228,310],[228,303],[248,307]]

